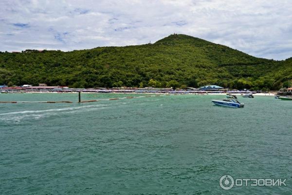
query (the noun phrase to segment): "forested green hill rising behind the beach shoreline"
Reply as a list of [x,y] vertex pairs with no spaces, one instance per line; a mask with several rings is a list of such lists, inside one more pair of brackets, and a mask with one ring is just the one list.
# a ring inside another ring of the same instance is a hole
[[259,59],[224,45],[187,35],[154,44],[88,50],[0,53],[1,84],[71,87],[269,88],[288,85],[292,59]]

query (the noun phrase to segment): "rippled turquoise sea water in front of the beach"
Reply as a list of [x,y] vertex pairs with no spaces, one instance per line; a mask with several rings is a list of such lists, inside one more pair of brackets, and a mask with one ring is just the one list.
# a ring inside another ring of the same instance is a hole
[[[82,99],[124,94],[82,94]],[[135,95],[140,96],[140,95]],[[292,101],[178,95],[76,103],[77,94],[0,94],[0,194],[292,194]],[[219,178],[287,178],[233,187]]]

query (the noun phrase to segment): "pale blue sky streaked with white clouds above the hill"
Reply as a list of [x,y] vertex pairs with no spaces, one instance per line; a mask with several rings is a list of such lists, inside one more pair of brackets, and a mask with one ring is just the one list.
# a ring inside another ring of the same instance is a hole
[[292,1],[0,0],[0,51],[138,45],[173,33],[287,59]]

